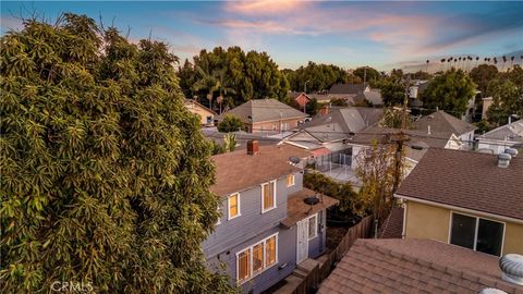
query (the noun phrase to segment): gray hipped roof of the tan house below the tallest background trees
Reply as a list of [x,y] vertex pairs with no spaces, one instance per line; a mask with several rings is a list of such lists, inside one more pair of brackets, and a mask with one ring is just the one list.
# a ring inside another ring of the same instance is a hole
[[244,122],[248,122],[248,117],[251,117],[252,122],[255,123],[307,117],[302,111],[276,99],[248,100],[245,103],[222,113],[220,118],[224,118],[227,114],[234,114]]

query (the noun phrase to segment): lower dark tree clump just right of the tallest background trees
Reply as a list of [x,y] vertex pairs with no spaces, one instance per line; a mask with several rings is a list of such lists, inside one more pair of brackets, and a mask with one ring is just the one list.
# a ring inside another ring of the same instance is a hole
[[307,93],[328,90],[335,84],[346,83],[346,72],[332,64],[316,64],[312,61],[307,66],[300,66],[297,70],[283,70],[292,90],[304,91],[307,82]]

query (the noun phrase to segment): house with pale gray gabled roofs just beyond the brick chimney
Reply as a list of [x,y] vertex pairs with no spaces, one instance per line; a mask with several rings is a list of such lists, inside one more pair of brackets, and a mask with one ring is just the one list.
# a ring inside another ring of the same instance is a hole
[[282,143],[313,150],[315,155],[346,149],[346,142],[355,132],[376,124],[382,115],[382,109],[377,108],[332,107],[328,114],[300,125]]

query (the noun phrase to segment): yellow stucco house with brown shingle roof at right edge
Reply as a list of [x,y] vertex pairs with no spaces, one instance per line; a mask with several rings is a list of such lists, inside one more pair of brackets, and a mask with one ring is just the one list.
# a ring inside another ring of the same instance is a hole
[[403,236],[501,256],[523,254],[523,158],[430,148],[394,197]]

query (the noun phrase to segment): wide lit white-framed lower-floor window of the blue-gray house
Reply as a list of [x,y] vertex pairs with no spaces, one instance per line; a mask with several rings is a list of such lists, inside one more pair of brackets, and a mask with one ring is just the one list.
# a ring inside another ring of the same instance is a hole
[[243,283],[278,262],[278,234],[236,254],[236,281]]

